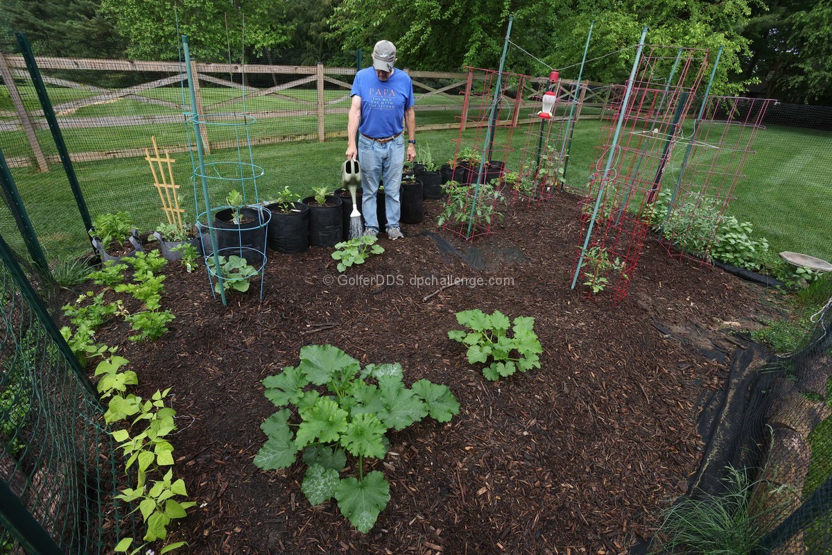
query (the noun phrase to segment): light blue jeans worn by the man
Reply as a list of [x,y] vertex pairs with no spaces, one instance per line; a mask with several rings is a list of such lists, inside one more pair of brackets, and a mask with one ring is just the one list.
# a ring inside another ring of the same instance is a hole
[[399,192],[402,187],[404,168],[404,133],[393,141],[379,142],[359,135],[359,161],[361,162],[361,211],[364,212],[364,227],[379,230],[379,216],[376,213],[376,195],[379,181],[384,182],[384,208],[387,215],[387,229],[399,227],[402,216],[402,202]]

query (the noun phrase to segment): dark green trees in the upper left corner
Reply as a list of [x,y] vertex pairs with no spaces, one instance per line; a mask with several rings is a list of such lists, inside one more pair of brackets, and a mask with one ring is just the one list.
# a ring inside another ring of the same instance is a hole
[[12,32],[25,32],[37,55],[120,57],[126,42],[99,7],[98,0],[5,0],[3,47],[16,49]]

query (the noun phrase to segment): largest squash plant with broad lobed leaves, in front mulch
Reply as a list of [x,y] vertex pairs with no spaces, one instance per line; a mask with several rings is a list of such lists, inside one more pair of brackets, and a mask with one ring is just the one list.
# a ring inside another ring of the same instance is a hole
[[[334,497],[344,517],[369,532],[387,506],[390,487],[378,470],[364,473],[364,459],[384,458],[390,429],[405,429],[428,415],[448,422],[459,412],[446,386],[420,379],[407,388],[403,376],[401,364],[362,369],[358,360],[332,345],[302,347],[297,367],[287,366],[263,380],[266,398],[280,410],[260,424],[269,439],[255,465],[288,468],[302,453],[308,468],[301,489],[310,503]],[[325,386],[329,394],[312,386]],[[357,458],[357,478],[340,477],[348,453]]]

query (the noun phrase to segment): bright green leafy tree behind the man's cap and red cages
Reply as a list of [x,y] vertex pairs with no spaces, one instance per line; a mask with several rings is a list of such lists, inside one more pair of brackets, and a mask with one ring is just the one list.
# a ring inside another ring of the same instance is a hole
[[[716,76],[717,93],[743,88],[740,57],[747,57],[745,27],[755,0],[347,0],[336,8],[334,34],[348,47],[367,47],[387,38],[399,47],[399,65],[448,71],[472,65],[496,68],[508,16],[513,14],[509,71],[548,73],[581,61],[590,22],[595,29],[584,78],[623,82],[629,74],[641,28],[647,41],[711,49],[725,47]],[[520,48],[534,57],[523,53]],[[621,52],[619,52],[621,51]],[[565,73],[577,77],[577,67]]]

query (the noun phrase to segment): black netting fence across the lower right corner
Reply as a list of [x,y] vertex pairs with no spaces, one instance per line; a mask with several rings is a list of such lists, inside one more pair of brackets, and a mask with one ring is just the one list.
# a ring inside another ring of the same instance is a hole
[[701,413],[701,468],[651,553],[832,553],[832,299],[812,320],[795,353],[732,356]]

